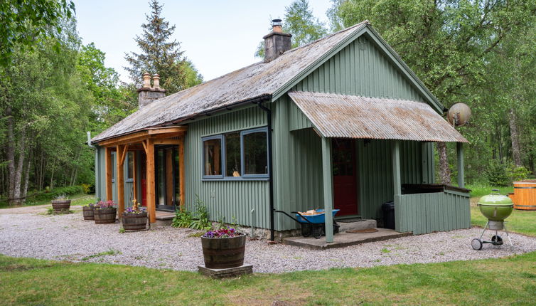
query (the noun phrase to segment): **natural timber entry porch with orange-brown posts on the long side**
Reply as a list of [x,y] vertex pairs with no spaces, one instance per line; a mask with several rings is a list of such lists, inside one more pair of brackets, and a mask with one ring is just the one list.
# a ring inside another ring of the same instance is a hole
[[[146,206],[151,223],[156,221],[157,210],[174,211],[184,204],[186,130],[181,126],[149,128],[98,143],[104,149],[105,199],[117,201],[119,218],[132,206],[132,199]],[[132,195],[129,201],[127,194]]]

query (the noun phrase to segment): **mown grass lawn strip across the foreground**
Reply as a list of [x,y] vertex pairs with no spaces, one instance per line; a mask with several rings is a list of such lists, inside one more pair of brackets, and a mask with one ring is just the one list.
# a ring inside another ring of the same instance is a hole
[[489,300],[531,305],[535,262],[532,252],[211,280],[191,272],[0,255],[0,300],[4,305],[482,305]]

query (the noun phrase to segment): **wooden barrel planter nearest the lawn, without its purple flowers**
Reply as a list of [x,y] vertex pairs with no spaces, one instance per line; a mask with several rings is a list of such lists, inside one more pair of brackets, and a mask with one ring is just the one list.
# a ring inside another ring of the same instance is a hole
[[232,238],[201,237],[201,246],[206,268],[235,268],[244,264],[245,235]]

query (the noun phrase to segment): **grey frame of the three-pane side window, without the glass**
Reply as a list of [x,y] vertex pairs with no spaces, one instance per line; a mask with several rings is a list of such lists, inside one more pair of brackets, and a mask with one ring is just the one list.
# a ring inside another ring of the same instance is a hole
[[[240,176],[226,176],[227,174],[227,144],[225,143],[225,134],[233,132],[240,132]],[[245,155],[244,155],[244,136],[255,132],[264,132],[266,134],[266,147],[267,147],[267,174],[245,174]],[[221,152],[220,152],[220,167],[222,170],[221,175],[205,175],[205,141],[211,139],[220,139]],[[221,134],[214,134],[210,136],[201,137],[201,181],[267,181],[270,178],[269,173],[269,144],[268,144],[268,127],[255,127],[247,130],[235,130],[227,131]]]

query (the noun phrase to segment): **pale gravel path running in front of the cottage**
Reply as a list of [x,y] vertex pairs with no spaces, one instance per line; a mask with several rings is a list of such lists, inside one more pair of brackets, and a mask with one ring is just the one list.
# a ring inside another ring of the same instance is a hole
[[[189,229],[166,226],[119,233],[119,223],[96,225],[93,221],[82,221],[80,211],[61,216],[5,212],[0,214],[0,253],[4,255],[191,271],[203,263],[200,238],[188,237],[196,233]],[[509,246],[489,244],[485,244],[483,250],[473,250],[471,239],[480,233],[481,228],[471,228],[332,250],[306,250],[269,245],[266,241],[248,241],[245,261],[252,263],[257,273],[283,273],[498,258],[536,250],[536,238],[517,234],[510,235],[513,250]],[[99,255],[109,250],[113,255]]]

